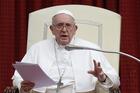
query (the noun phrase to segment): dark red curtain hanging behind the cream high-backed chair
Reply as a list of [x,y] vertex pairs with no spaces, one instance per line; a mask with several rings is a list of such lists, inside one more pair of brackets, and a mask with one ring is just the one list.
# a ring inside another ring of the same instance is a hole
[[[96,6],[120,14],[120,50],[140,58],[140,0],[0,0],[0,93],[12,86],[12,64],[26,53],[29,13],[67,4]],[[140,93],[140,63],[120,56],[119,75],[122,93]]]

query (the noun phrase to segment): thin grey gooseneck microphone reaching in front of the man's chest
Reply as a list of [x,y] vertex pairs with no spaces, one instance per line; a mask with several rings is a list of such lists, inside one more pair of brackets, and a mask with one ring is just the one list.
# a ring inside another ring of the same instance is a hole
[[119,51],[106,51],[106,50],[95,49],[95,48],[85,47],[85,46],[77,46],[77,45],[67,45],[67,46],[65,46],[65,49],[68,50],[68,51],[72,51],[72,50],[93,50],[93,51],[104,52],[104,53],[120,54],[120,55],[127,56],[129,58],[132,58],[132,59],[140,62],[140,59],[138,59],[137,57],[132,56],[132,55],[127,54],[127,53],[124,53],[124,52],[119,52]]

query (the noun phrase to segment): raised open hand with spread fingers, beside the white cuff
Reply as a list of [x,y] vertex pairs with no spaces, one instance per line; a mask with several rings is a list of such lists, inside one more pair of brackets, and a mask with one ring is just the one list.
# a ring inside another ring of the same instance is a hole
[[93,60],[93,63],[94,63],[94,69],[89,70],[88,73],[94,75],[95,77],[97,77],[100,82],[105,81],[107,76],[103,72],[100,63],[99,62],[97,63],[95,60]]

